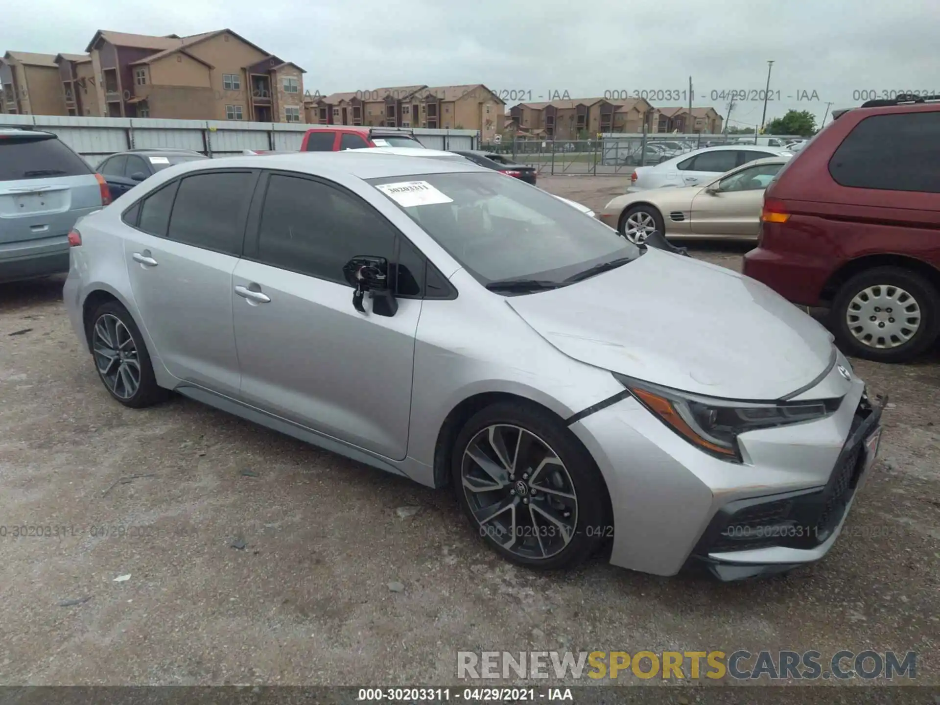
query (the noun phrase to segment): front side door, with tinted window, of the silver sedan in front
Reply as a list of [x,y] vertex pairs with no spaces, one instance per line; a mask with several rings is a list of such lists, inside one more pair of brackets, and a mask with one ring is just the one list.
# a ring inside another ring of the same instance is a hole
[[287,173],[267,179],[230,293],[242,399],[402,460],[421,301],[399,297],[387,317],[369,310],[367,296],[361,313],[342,273],[355,256],[396,262],[401,236],[329,182]]

